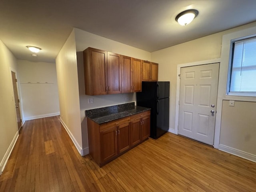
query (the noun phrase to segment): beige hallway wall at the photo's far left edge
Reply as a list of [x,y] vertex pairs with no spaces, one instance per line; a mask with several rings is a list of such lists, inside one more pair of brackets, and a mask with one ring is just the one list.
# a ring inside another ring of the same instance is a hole
[[0,174],[18,136],[11,69],[17,72],[17,61],[0,40]]

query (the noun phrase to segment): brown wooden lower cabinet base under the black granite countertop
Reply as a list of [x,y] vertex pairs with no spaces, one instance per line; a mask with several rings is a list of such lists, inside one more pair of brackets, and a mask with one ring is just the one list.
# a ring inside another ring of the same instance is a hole
[[103,166],[148,139],[150,111],[104,124],[87,118],[87,126],[90,155],[99,166]]

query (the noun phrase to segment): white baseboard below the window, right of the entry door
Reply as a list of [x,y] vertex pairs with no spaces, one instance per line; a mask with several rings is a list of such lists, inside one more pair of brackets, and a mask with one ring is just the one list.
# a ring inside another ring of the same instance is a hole
[[220,144],[219,150],[256,162],[256,155]]

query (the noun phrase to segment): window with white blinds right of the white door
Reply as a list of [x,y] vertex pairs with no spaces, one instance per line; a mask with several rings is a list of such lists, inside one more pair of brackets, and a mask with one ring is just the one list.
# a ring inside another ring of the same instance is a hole
[[256,96],[256,37],[231,41],[228,95]]

